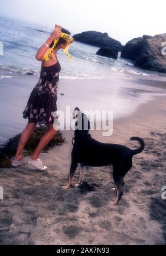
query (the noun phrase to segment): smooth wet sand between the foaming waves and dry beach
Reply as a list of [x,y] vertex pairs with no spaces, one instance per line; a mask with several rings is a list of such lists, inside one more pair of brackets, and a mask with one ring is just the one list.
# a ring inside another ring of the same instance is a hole
[[[0,71],[1,74],[1,71]],[[22,132],[28,119],[23,118],[38,76],[4,72],[0,79],[0,144]],[[11,77],[10,77],[11,76]],[[113,111],[113,120],[134,113],[155,95],[166,96],[166,79],[161,76],[133,75],[132,79],[59,79],[58,110]]]

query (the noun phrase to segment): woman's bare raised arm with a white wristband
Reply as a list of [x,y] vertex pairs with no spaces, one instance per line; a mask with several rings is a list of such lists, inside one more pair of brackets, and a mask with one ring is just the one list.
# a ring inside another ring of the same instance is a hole
[[[46,44],[48,44],[48,46],[50,46],[50,44],[53,42],[54,39],[58,38],[61,35],[61,31],[56,31],[54,29],[53,33],[51,33],[51,36],[49,36],[49,38],[46,40]],[[48,47],[43,44],[39,49],[38,52],[35,56],[35,58],[37,59],[37,61],[42,61],[44,54],[46,53],[46,51],[48,50]]]

